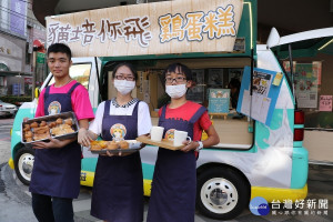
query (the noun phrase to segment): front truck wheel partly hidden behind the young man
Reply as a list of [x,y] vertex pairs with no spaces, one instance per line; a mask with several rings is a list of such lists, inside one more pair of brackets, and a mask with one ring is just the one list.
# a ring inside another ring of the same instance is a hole
[[33,161],[34,151],[29,148],[21,148],[14,157],[16,173],[26,185],[30,184]]

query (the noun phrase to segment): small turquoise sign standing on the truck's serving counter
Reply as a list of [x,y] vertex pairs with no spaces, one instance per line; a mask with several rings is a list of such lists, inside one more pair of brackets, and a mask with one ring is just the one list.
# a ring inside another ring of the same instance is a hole
[[228,113],[230,103],[230,89],[210,89],[209,113]]

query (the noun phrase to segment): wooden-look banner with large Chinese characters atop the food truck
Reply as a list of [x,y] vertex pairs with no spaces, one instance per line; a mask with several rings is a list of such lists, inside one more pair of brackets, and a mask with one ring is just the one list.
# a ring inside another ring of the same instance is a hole
[[232,52],[242,0],[178,0],[47,18],[48,46],[74,57]]

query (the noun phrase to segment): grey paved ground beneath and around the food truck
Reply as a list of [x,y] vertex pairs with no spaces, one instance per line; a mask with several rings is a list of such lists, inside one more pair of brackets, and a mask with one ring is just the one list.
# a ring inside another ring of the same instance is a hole
[[[10,157],[10,138],[9,131],[12,120],[3,121],[0,119],[0,221],[1,222],[34,222],[37,221],[31,210],[31,194],[28,186],[23,185],[7,164]],[[315,201],[314,209],[304,209],[294,211],[283,209],[276,211],[276,215],[272,211],[266,216],[253,215],[249,210],[245,210],[240,216],[232,222],[329,222],[333,221],[333,168],[311,165],[309,173],[309,195],[306,201]],[[319,210],[319,200],[327,201],[326,210]],[[147,215],[145,199],[144,216]],[[74,200],[74,212],[77,222],[99,221],[90,215],[91,188],[81,186],[79,199]],[[283,204],[280,204],[281,209]],[[271,205],[272,208],[272,205]],[[305,215],[305,213],[309,215]],[[302,214],[300,214],[300,212]],[[286,215],[289,214],[289,215]],[[326,214],[326,215],[323,215]],[[218,222],[218,220],[208,219],[199,213],[195,214],[195,222]]]

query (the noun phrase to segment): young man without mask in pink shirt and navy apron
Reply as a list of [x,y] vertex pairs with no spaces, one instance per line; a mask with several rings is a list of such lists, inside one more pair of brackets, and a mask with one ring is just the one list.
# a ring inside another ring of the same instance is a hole
[[[94,118],[88,91],[71,79],[71,50],[62,43],[48,49],[48,65],[54,84],[40,94],[36,118],[73,111],[79,121],[78,140],[87,140],[89,121]],[[32,210],[38,221],[73,221],[72,199],[80,192],[81,147],[77,139],[36,142],[34,164],[30,182]]]

